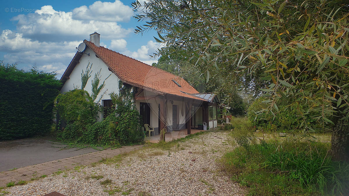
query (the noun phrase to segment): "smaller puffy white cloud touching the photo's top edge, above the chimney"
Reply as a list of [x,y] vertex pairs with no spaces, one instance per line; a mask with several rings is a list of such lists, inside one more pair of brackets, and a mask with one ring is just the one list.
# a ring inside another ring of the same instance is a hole
[[73,19],[94,21],[128,22],[133,12],[131,7],[119,0],[115,2],[96,1],[89,7],[81,6],[73,9]]

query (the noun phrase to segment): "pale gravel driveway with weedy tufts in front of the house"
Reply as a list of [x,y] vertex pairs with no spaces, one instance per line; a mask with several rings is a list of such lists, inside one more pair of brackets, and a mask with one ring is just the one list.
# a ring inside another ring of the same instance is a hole
[[8,196],[52,191],[67,196],[243,195],[243,188],[218,171],[216,159],[232,149],[227,138],[227,133],[206,132],[178,142],[170,150],[144,148],[120,160],[76,168],[4,190]]

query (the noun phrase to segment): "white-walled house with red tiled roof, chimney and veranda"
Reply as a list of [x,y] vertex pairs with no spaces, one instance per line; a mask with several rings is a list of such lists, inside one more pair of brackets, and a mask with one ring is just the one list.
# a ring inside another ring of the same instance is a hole
[[[92,65],[92,77],[101,70],[101,78],[107,78],[100,104],[111,106],[110,92],[119,92],[119,81],[132,87],[134,102],[143,118],[143,124],[154,127],[159,134],[160,128],[167,132],[198,129],[206,122],[209,128],[217,127],[218,98],[212,93],[199,93],[183,78],[164,70],[147,65],[118,52],[99,45],[100,35],[94,32],[90,41],[84,40],[84,49],[77,51],[61,77],[61,92],[81,86],[81,73],[88,63]],[[85,46],[86,45],[86,46]],[[91,95],[91,79],[84,88]],[[99,115],[103,118],[103,114]]]

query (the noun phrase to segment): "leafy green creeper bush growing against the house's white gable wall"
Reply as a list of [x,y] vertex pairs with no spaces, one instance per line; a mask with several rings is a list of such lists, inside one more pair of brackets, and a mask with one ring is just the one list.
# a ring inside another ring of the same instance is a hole
[[57,139],[65,142],[119,146],[140,143],[144,139],[140,126],[141,116],[133,109],[131,89],[124,87],[119,95],[111,93],[110,114],[97,122],[98,111],[102,108],[94,103],[85,90],[75,89],[57,96],[55,110],[60,122],[66,126],[57,130]]

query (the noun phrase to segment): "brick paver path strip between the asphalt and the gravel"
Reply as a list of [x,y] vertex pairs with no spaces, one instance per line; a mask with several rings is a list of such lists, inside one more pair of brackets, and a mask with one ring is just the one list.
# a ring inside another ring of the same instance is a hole
[[74,157],[48,161],[27,167],[21,167],[13,171],[5,171],[0,173],[0,187],[5,187],[10,181],[29,181],[31,178],[38,178],[42,175],[49,175],[57,171],[72,169],[80,165],[89,165],[103,158],[111,158],[118,154],[131,152],[139,149],[141,146],[122,146],[117,149],[106,149],[87,154],[81,154]]

